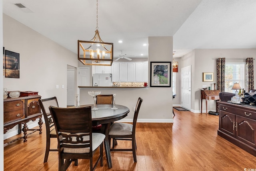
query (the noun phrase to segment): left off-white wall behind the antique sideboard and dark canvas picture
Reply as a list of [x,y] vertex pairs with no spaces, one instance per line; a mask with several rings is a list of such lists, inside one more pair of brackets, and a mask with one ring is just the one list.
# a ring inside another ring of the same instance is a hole
[[[56,96],[59,105],[66,107],[67,65],[78,67],[75,53],[5,14],[3,46],[6,50],[20,53],[20,79],[3,78],[3,87],[8,91],[38,91],[42,98]],[[56,89],[56,85],[60,88]],[[28,126],[34,123],[37,124],[30,121]],[[4,139],[16,134],[16,130],[17,126],[9,130]]]

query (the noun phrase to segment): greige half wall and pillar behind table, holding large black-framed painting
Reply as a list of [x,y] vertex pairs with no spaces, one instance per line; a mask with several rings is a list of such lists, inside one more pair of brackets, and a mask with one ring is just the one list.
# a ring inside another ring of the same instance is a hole
[[[172,61],[172,37],[149,37],[148,45],[148,73],[150,77],[151,61]],[[81,105],[93,103],[92,96],[88,95],[88,91],[90,91],[90,89],[80,90]],[[111,89],[100,91],[102,92],[101,94],[116,93],[116,104],[122,104],[130,108],[130,113],[125,119],[131,120],[133,118],[133,107],[136,106],[138,97],[141,97],[143,98],[143,102],[140,108],[138,122],[173,122],[172,87],[149,87],[148,89],[137,90]]]

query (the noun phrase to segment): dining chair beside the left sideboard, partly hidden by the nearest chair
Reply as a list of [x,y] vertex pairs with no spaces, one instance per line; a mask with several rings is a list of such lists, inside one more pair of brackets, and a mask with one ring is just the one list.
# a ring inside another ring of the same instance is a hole
[[49,110],[49,106],[56,106],[58,107],[58,101],[56,97],[39,99],[39,105],[42,109],[42,113],[44,115],[44,122],[46,128],[46,149],[44,155],[44,163],[47,162],[49,152],[50,151],[58,151],[58,149],[50,149],[51,138],[57,138],[56,130],[54,127],[54,122],[52,120],[52,115]]

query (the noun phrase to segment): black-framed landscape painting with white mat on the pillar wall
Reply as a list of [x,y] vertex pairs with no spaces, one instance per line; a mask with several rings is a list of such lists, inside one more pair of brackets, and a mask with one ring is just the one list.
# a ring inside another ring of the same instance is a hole
[[171,62],[150,62],[150,86],[171,86]]

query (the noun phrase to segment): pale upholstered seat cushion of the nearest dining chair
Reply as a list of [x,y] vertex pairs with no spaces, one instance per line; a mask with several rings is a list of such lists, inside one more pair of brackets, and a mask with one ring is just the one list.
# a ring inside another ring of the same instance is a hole
[[[84,136],[83,137],[84,140],[89,140],[89,136]],[[100,144],[104,141],[105,139],[105,135],[104,134],[100,134],[100,133],[92,133],[92,151],[94,151],[95,149],[97,149]],[[67,143],[70,144],[70,143]],[[72,145],[81,145],[82,143],[78,143],[78,144],[72,144]],[[63,149],[64,153],[89,153],[90,152],[90,148],[64,148]]]

